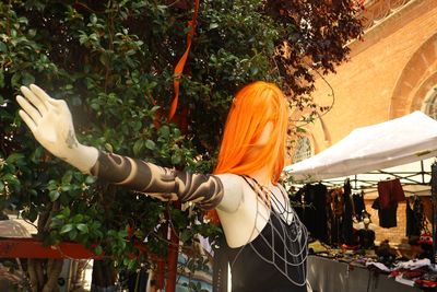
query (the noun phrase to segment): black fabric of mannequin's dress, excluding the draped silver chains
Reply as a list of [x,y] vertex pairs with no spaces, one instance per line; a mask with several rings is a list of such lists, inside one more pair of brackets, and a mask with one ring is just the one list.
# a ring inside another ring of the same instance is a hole
[[[274,253],[271,245],[274,244],[274,250],[284,250],[284,248],[290,249],[302,249],[303,243],[306,238],[300,238],[300,241],[286,241],[284,246],[284,241],[282,238],[283,234],[277,234],[274,230],[283,231],[284,229],[290,229],[285,222],[273,214],[271,211],[270,220],[265,227],[261,231],[260,235],[257,236],[251,243],[244,245],[238,248],[231,248],[227,246],[228,260],[231,264],[232,271],[232,288],[233,292],[306,292],[306,285],[297,285],[291,282],[273,264],[268,261],[276,262],[276,266],[281,270],[285,270],[285,266],[288,269],[288,276],[295,282],[305,281],[305,275],[302,275],[300,267],[293,266],[296,264],[285,262],[280,258],[283,256],[280,253],[277,255]],[[305,229],[300,225],[300,229]],[[297,230],[292,232],[298,232]],[[304,233],[303,233],[304,234]],[[304,237],[304,236],[302,236]],[[265,240],[268,242],[265,242]],[[264,258],[262,259],[261,256]],[[307,256],[307,252],[304,250],[303,256]],[[302,264],[306,269],[306,260]]]

